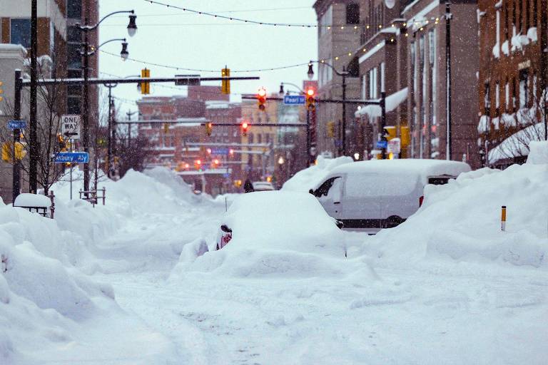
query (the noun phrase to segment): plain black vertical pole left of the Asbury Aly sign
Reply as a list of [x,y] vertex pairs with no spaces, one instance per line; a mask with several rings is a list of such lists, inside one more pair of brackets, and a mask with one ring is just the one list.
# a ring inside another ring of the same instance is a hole
[[[31,107],[29,110],[29,144],[30,144],[30,156],[29,156],[29,190],[31,192],[37,191],[38,185],[38,137],[36,135],[36,114],[37,114],[37,102],[36,102],[36,78],[37,78],[37,65],[36,65],[36,53],[38,53],[38,0],[31,0]],[[14,151],[15,154],[15,151]],[[14,155],[15,157],[15,155]]]

